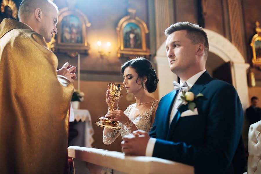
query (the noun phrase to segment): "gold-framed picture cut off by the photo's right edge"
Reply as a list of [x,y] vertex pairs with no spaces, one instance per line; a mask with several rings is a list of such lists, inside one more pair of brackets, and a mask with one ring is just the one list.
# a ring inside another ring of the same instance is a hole
[[250,46],[252,47],[253,51],[253,58],[252,63],[253,66],[261,68],[261,28],[259,27],[259,22],[255,22],[256,28],[255,31],[257,34],[255,34],[252,37]]

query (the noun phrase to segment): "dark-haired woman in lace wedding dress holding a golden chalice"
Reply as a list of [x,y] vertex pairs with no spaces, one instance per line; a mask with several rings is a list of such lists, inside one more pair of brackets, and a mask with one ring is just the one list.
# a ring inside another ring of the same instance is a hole
[[[121,129],[104,128],[104,144],[111,144],[119,135],[123,137],[138,129],[148,133],[153,125],[155,111],[159,103],[150,95],[157,89],[159,81],[150,61],[143,57],[127,61],[121,66],[121,75],[123,75],[123,84],[127,93],[134,94],[136,103],[128,106],[123,112],[118,110],[118,102],[122,94],[115,101],[117,108],[107,113],[106,117],[113,117],[110,121],[119,121],[118,126]],[[110,106],[109,90],[106,92],[106,102]]]

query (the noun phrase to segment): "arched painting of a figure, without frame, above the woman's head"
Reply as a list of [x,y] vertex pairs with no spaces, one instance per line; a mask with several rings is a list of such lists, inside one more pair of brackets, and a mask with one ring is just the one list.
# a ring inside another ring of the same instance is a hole
[[136,23],[128,23],[123,29],[124,48],[142,48],[141,30]]

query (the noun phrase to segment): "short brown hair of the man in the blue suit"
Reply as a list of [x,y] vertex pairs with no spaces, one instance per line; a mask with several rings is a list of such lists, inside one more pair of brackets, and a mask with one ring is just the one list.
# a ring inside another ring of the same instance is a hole
[[206,32],[197,24],[189,22],[177,22],[172,24],[165,30],[165,35],[168,37],[175,31],[186,30],[186,37],[192,42],[192,44],[203,44],[205,47],[205,53],[207,55],[209,51],[209,42]]

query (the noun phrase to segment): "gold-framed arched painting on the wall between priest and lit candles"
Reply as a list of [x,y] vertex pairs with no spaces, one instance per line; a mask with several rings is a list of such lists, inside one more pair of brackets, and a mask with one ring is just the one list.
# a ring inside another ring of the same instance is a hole
[[80,10],[63,8],[59,11],[57,37],[54,52],[64,52],[70,57],[77,54],[88,54],[90,46],[87,42],[87,27],[91,23]]

